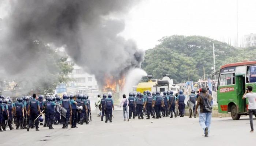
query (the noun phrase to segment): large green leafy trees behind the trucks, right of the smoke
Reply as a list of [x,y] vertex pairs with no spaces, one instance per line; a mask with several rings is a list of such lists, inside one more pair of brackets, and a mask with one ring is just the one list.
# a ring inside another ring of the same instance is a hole
[[204,78],[203,67],[205,77],[212,78],[212,43],[215,46],[216,70],[228,63],[256,59],[255,53],[249,53],[255,49],[253,47],[237,49],[227,43],[202,36],[173,35],[163,37],[159,42],[155,48],[146,51],[142,69],[158,79],[162,78],[162,74],[168,73],[174,83],[188,81],[188,77],[192,81]]

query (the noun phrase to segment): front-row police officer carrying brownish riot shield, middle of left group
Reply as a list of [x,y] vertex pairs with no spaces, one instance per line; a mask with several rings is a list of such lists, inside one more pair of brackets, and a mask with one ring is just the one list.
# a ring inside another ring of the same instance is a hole
[[68,128],[68,119],[70,117],[70,114],[72,114],[72,108],[71,108],[71,104],[70,104],[70,101],[68,99],[68,96],[66,94],[64,94],[62,96],[62,100],[60,101],[60,105],[61,107],[65,108],[67,110],[67,113],[66,113],[66,118],[61,115],[61,120],[62,120],[62,125],[63,125],[63,129],[64,128]]

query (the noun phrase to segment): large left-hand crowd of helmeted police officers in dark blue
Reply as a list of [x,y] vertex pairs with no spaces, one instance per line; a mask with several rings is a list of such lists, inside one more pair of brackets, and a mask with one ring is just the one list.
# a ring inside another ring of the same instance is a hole
[[[44,127],[53,129],[53,124],[63,124],[62,128],[68,128],[68,123],[71,123],[71,128],[78,128],[79,124],[89,124],[90,100],[88,95],[63,95],[63,99],[58,95],[50,96],[36,95],[33,97],[17,97],[16,102],[12,102],[10,97],[0,96],[0,132],[5,131],[9,126],[10,130],[14,129],[12,123],[15,123],[16,129],[34,128],[39,131],[39,121],[43,122],[41,116],[45,114]],[[57,105],[65,108],[67,112],[65,116],[57,112]]]

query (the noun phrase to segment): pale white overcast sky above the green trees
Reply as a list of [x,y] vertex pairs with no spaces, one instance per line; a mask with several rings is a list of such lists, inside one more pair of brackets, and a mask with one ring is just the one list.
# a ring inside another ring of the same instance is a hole
[[[0,0],[0,18],[6,5]],[[239,44],[256,33],[256,0],[238,0]],[[163,36],[203,35],[226,41],[237,38],[237,0],[145,0],[124,16],[121,35],[134,39],[140,49],[153,48]]]

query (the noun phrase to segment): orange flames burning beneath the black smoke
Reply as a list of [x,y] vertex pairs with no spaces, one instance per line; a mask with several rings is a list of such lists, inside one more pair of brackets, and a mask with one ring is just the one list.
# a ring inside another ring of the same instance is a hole
[[122,91],[125,83],[124,76],[121,77],[121,79],[116,80],[113,76],[106,77],[105,79],[106,85],[103,88],[103,92],[116,92],[117,85],[119,86],[119,91]]

